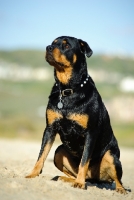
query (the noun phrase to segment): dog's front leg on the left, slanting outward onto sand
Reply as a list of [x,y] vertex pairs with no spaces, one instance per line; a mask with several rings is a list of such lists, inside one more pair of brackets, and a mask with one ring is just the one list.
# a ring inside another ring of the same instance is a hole
[[50,128],[46,128],[43,134],[42,138],[42,144],[41,149],[39,153],[38,160],[32,170],[32,172],[26,176],[26,178],[34,178],[38,176],[42,172],[42,168],[44,166],[44,162],[46,160],[46,157],[52,147],[52,144],[55,140],[56,134],[52,133],[52,130]]

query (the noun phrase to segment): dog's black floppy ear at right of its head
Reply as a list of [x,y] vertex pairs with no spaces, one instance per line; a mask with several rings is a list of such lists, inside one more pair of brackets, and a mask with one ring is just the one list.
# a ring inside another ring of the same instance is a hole
[[87,57],[90,57],[93,54],[92,49],[89,47],[88,43],[78,39],[79,44],[80,44],[80,49],[82,51],[82,53],[86,54]]

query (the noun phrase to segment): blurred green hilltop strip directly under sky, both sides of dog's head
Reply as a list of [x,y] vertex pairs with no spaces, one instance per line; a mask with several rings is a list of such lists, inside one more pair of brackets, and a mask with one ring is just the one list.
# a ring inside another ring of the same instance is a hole
[[[45,51],[16,50],[0,51],[0,59],[31,67],[49,66],[45,62]],[[104,69],[107,72],[121,72],[125,75],[134,75],[134,58],[121,55],[93,55],[87,59],[88,65],[93,69]]]

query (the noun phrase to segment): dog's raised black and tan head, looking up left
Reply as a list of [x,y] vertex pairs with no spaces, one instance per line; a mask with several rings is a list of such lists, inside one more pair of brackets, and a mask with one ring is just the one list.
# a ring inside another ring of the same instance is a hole
[[[85,59],[85,55],[90,57],[92,53],[85,41],[74,37],[61,36],[46,47],[46,61],[55,67],[57,75],[61,75],[61,73],[67,75],[68,73],[69,80],[75,66],[78,69],[83,59]],[[63,81],[64,84],[68,80]]]

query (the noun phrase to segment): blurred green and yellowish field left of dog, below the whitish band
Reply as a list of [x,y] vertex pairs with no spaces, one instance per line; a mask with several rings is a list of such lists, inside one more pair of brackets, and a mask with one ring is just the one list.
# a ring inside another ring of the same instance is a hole
[[41,138],[44,117],[38,112],[46,106],[52,82],[0,81],[0,136],[10,138]]

